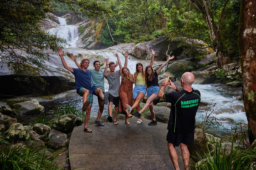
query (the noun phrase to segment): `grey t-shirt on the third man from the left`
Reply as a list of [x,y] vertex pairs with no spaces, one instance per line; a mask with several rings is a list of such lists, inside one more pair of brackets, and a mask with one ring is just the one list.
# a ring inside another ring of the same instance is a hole
[[113,74],[109,74],[107,73],[107,78],[108,80],[108,84],[109,84],[109,89],[108,92],[114,96],[114,97],[118,97],[118,90],[119,90],[119,86],[120,86],[120,71],[116,71]]

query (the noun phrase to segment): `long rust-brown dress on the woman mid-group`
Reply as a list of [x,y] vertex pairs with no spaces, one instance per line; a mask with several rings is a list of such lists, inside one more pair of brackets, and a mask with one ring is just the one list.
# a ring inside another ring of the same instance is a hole
[[[126,114],[124,111],[126,109],[126,105],[132,106],[132,86],[133,82],[131,83],[129,79],[126,79],[125,81],[122,79],[121,84],[119,87],[119,107],[118,111],[122,112],[122,114]],[[133,110],[132,112],[133,113]]]

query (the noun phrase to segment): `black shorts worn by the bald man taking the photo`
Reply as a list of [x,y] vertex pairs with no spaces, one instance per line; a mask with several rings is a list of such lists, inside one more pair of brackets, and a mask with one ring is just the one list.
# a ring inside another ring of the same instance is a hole
[[168,130],[166,140],[167,142],[172,143],[175,146],[179,146],[180,143],[193,144],[194,135],[195,135],[195,130],[193,130],[193,132],[188,134],[179,134],[179,133],[174,133],[171,130]]

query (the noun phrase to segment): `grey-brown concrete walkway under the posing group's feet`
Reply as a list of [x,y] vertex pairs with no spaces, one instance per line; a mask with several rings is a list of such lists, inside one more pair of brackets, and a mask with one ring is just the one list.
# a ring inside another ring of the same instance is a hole
[[[71,169],[174,169],[166,141],[167,124],[148,126],[150,120],[143,118],[137,125],[137,120],[128,119],[130,125],[125,121],[118,125],[106,122],[103,127],[91,124],[91,133],[83,131],[84,125],[74,128],[69,142]],[[183,169],[180,147],[176,150]]]

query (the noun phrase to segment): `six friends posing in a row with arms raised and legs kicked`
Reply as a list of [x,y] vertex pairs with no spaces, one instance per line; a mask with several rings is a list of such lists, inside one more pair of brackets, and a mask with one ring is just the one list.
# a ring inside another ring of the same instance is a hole
[[[134,74],[131,74],[130,70],[127,68],[129,54],[128,51],[126,51],[124,54],[124,67],[122,66],[120,58],[116,53],[115,55],[117,57],[117,63],[110,62],[109,59],[106,58],[105,70],[100,69],[101,64],[98,60],[93,62],[94,69],[89,69],[88,66],[90,61],[88,59],[82,59],[79,64],[76,60],[76,56],[70,54],[71,59],[74,60],[78,67],[72,68],[66,64],[63,58],[64,51],[62,51],[61,48],[59,48],[58,53],[61,57],[64,68],[74,74],[77,93],[83,97],[82,110],[86,111],[84,125],[85,131],[92,132],[92,130],[89,129],[87,125],[90,118],[91,107],[93,104],[93,95],[96,95],[98,97],[99,111],[95,123],[99,126],[104,126],[104,124],[100,122],[100,117],[103,112],[104,104],[107,103],[109,103],[108,121],[113,122],[114,125],[118,124],[118,122],[116,121],[118,112],[122,112],[122,114],[125,114],[126,125],[130,124],[127,118],[130,118],[133,115],[139,118],[136,123],[141,124],[141,113],[144,112],[148,107],[150,109],[153,119],[148,125],[157,124],[155,112],[153,109],[153,100],[157,98],[157,94],[159,91],[158,74],[162,70],[162,68],[171,59],[174,58],[174,56],[169,57],[167,61],[154,72],[152,65],[154,62],[155,52],[153,49],[151,49],[152,58],[150,64],[146,66],[146,69],[144,70],[142,63],[137,63],[136,72]],[[119,65],[119,70],[117,71],[115,71],[116,65]],[[121,83],[120,76],[122,77]],[[104,89],[104,77],[108,80],[109,83],[109,89],[108,92],[106,92],[106,95]],[[133,84],[135,84],[134,89]],[[148,99],[145,106],[142,108],[142,110],[140,110],[140,101],[144,98],[146,92]],[[115,105],[114,118],[112,118],[113,105]],[[134,109],[136,109],[136,113],[133,113]]]

